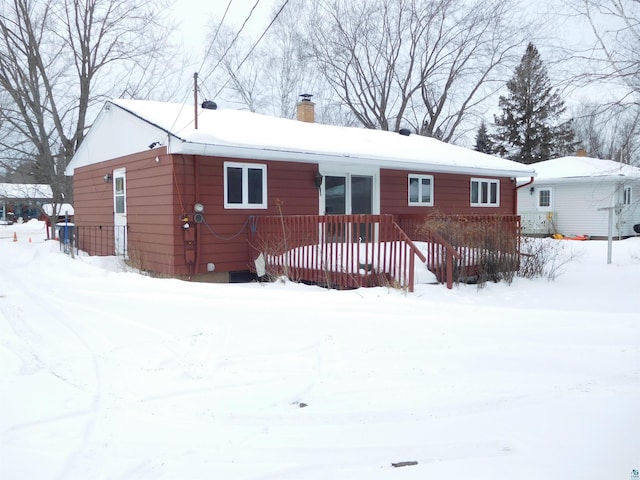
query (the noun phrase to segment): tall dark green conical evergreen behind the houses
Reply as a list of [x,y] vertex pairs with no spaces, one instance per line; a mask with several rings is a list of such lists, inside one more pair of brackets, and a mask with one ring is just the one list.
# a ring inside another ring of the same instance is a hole
[[495,116],[496,152],[521,163],[535,163],[573,153],[571,121],[560,122],[565,111],[558,91],[552,91],[538,49],[529,43],[520,65],[500,96],[502,115]]

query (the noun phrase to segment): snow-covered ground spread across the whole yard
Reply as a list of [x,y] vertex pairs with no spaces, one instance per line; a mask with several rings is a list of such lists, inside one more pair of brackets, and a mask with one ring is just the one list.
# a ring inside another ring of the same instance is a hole
[[153,279],[44,238],[0,226],[3,480],[640,469],[640,238],[611,265],[553,241],[554,282],[413,294]]

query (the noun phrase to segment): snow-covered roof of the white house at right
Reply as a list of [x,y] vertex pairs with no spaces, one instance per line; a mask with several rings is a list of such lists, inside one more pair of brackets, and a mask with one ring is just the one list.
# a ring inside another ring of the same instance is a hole
[[637,179],[640,168],[591,157],[560,157],[533,165],[538,172],[536,182],[579,181],[585,179]]

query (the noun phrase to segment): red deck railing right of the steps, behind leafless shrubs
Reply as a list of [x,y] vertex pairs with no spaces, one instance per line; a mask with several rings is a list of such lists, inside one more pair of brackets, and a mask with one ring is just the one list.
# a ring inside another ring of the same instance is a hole
[[491,273],[492,268],[518,268],[518,215],[403,215],[398,224],[413,240],[432,245],[435,252],[427,265],[449,288],[453,281]]

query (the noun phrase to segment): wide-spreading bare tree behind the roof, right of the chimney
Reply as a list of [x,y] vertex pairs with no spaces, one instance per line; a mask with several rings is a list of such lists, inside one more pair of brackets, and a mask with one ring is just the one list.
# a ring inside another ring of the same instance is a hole
[[309,30],[320,71],[362,125],[397,131],[408,124],[453,141],[517,59],[527,24],[514,7],[509,0],[320,0]]

